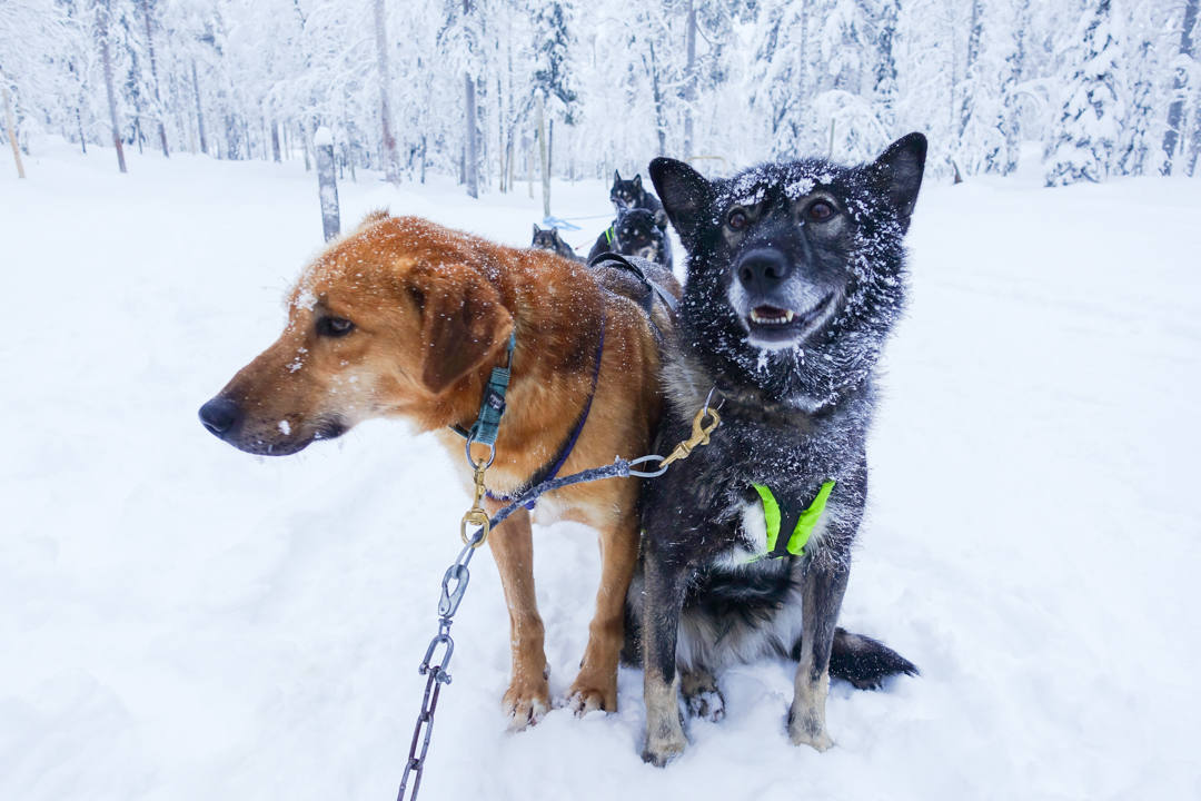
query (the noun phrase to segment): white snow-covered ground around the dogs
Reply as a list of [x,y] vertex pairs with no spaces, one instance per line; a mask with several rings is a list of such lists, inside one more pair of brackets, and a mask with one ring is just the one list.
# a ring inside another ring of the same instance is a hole
[[[196,408],[265,347],[319,246],[298,162],[61,145],[0,179],[0,799],[389,799],[466,504],[398,423],[253,459]],[[522,184],[341,185],[526,244]],[[556,186],[603,215],[599,181]],[[621,710],[506,734],[485,552],[455,624],[426,799],[1195,799],[1201,181],[928,186],[843,612],[922,669],[831,689],[824,754],[783,731],[791,668],[722,677],[664,771]],[[603,220],[572,233],[591,243]],[[582,653],[594,537],[536,533],[551,686]]]

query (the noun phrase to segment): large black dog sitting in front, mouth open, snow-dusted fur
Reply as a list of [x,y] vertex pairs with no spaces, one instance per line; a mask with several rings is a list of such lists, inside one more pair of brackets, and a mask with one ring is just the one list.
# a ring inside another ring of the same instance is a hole
[[[912,133],[849,168],[806,160],[709,181],[683,162],[651,162],[688,251],[661,447],[688,435],[715,385],[723,420],[644,497],[629,599],[646,669],[644,758],[656,765],[686,745],[681,688],[693,713],[721,717],[713,676],[731,663],[797,660],[788,733],[818,751],[832,745],[830,675],[874,687],[916,673],[836,623],[867,494],[872,372],[903,304],[902,239],[925,157],[925,137]],[[748,563],[766,550],[751,484],[772,489],[787,537],[829,479],[836,484],[803,555]]]

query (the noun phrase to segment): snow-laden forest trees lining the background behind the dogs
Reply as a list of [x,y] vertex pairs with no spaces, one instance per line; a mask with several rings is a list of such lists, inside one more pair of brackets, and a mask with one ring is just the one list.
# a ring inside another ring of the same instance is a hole
[[[456,174],[478,196],[919,130],[931,174],[1187,174],[1199,0],[0,0],[4,126],[89,145]],[[120,165],[125,168],[124,160]],[[548,208],[549,211],[549,208]]]

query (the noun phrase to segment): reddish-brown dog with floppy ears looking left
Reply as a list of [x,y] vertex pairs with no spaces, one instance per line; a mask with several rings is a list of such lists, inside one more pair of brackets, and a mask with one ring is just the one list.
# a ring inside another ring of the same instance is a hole
[[[670,275],[656,279],[679,295]],[[243,450],[283,455],[369,418],[405,417],[461,460],[464,441],[449,426],[471,426],[515,329],[489,490],[514,494],[538,476],[562,452],[590,395],[562,474],[640,456],[659,417],[659,354],[651,321],[628,294],[628,276],[625,282],[548,251],[503,247],[376,213],[309,265],[292,291],[280,339],[204,405],[201,419]],[[669,324],[664,312],[653,316],[661,329]],[[628,479],[575,485],[537,507],[539,522],[570,519],[600,532],[596,615],[569,691],[579,713],[617,707],[623,605],[638,557],[638,489]],[[489,513],[502,506],[485,503]],[[503,703],[513,728],[536,722],[550,704],[530,522],[521,509],[488,540],[509,608],[513,677]],[[456,524],[447,519],[448,528]]]

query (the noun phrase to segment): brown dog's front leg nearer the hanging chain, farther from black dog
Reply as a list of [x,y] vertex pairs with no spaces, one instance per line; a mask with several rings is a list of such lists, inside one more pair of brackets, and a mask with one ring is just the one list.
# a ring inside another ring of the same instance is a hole
[[[490,509],[495,513],[495,509]],[[501,572],[504,602],[509,608],[513,677],[502,704],[509,728],[520,730],[537,723],[550,709],[543,624],[533,591],[533,532],[530,513],[514,512],[488,537]]]

